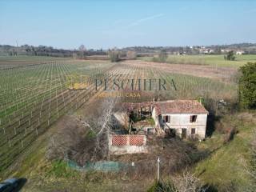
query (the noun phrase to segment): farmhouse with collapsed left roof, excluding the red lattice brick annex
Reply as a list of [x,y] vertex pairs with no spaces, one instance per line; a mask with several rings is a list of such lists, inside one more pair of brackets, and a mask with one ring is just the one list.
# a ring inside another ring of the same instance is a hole
[[208,111],[196,100],[126,103],[116,118],[129,134],[205,138]]

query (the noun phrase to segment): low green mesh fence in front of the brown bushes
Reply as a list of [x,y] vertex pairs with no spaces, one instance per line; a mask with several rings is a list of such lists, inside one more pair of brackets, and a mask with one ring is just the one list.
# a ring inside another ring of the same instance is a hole
[[67,161],[67,165],[75,170],[98,170],[98,171],[119,171],[126,169],[129,165],[122,162],[86,162],[84,166],[71,160]]

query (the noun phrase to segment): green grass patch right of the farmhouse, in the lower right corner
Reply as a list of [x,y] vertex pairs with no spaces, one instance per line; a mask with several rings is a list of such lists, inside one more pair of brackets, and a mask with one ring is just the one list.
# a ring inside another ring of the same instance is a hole
[[[235,121],[235,118],[233,119]],[[238,134],[223,145],[223,135],[214,134],[199,148],[212,151],[209,158],[198,162],[195,173],[206,184],[215,186],[218,191],[245,191],[253,185],[252,178],[246,172],[250,163],[250,142],[254,124],[236,122]],[[251,190],[252,191],[252,190]]]

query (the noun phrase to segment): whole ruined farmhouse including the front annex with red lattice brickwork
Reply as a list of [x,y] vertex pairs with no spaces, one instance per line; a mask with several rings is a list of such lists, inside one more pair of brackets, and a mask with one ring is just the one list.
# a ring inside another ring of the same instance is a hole
[[124,111],[114,114],[122,127],[109,135],[112,154],[145,153],[150,134],[164,137],[206,137],[208,111],[196,100],[126,103]]

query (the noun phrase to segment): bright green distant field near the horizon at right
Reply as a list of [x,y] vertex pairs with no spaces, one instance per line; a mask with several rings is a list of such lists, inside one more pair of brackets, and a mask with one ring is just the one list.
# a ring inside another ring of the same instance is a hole
[[[141,58],[144,61],[152,61],[152,57]],[[210,66],[228,66],[238,68],[247,62],[256,62],[256,54],[235,55],[235,61],[225,61],[224,55],[169,55],[167,61],[173,64],[197,64]]]

